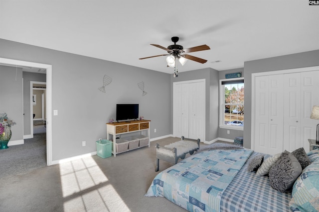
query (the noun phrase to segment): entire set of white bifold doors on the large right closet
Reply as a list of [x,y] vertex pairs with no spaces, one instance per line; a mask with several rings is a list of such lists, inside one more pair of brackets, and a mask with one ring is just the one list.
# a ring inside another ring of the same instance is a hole
[[255,78],[254,150],[276,154],[309,149],[316,137],[312,107],[319,105],[319,71],[305,71]]

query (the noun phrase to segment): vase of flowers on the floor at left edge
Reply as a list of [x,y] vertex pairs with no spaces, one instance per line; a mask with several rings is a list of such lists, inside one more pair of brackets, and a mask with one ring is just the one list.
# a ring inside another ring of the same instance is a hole
[[11,126],[15,122],[10,120],[6,113],[0,114],[0,149],[8,148],[8,142],[11,139]]

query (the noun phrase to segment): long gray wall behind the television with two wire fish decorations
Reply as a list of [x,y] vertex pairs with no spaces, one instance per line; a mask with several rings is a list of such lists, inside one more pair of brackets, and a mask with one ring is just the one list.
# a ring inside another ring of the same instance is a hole
[[[52,65],[52,110],[58,110],[58,116],[51,111],[52,160],[96,151],[95,141],[106,138],[106,122],[115,119],[117,103],[140,104],[140,115],[152,120],[151,138],[170,134],[170,74],[3,39],[0,46],[2,58]],[[103,93],[98,88],[105,74],[113,80]],[[22,84],[22,73],[19,80]],[[141,81],[145,96],[138,87]],[[22,111],[21,103],[18,107]]]

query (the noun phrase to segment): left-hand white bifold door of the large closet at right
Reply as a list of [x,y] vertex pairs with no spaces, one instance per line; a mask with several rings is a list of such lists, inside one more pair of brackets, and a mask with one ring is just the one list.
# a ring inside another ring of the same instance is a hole
[[283,149],[283,75],[256,77],[254,150],[276,154]]

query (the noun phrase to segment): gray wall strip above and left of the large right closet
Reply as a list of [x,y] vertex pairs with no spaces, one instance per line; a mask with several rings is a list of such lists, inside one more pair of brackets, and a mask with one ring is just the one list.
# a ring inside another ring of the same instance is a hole
[[319,66],[319,50],[284,55],[244,63],[245,70],[245,127],[244,146],[250,148],[251,144],[251,104],[252,104],[252,73],[297,69]]

